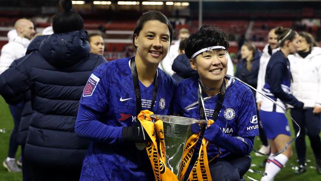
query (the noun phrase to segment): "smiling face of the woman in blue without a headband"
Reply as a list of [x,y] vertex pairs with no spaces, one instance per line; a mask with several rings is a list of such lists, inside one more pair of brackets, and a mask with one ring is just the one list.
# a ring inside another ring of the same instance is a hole
[[158,64],[165,58],[170,45],[169,29],[158,20],[147,21],[138,35],[134,35],[135,59],[145,64]]

